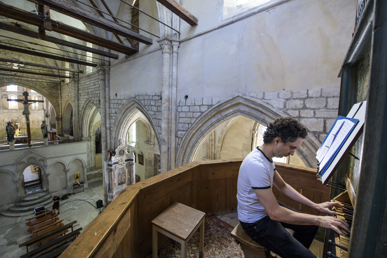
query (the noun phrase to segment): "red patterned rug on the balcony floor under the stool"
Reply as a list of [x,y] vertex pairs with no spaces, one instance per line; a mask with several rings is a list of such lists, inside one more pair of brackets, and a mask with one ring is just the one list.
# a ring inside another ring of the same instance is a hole
[[[204,253],[203,257],[211,258],[244,258],[243,252],[238,244],[235,243],[230,233],[233,226],[220,220],[214,214],[205,215],[204,223]],[[181,244],[173,243],[172,240],[161,246],[158,251],[158,257],[161,258],[180,258]],[[148,258],[152,255],[148,256]],[[199,230],[197,230],[188,242],[188,256],[190,258],[199,257]]]

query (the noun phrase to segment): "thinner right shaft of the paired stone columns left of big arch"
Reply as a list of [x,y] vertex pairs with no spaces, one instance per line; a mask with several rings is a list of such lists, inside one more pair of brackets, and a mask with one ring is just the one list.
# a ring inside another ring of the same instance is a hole
[[179,41],[172,41],[172,85],[171,85],[171,147],[170,147],[170,167],[175,168],[176,159],[176,111],[177,111],[177,55]]

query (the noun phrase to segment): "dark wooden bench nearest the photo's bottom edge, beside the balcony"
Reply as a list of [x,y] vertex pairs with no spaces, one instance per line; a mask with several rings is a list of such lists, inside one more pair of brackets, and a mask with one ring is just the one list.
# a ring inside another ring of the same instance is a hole
[[54,239],[53,241],[42,244],[40,247],[20,256],[20,258],[30,258],[38,255],[41,258],[43,257],[43,254],[45,254],[44,257],[55,257],[60,255],[67,248],[67,243],[74,241],[75,238],[79,236],[81,230],[82,227],[70,232],[69,234]]

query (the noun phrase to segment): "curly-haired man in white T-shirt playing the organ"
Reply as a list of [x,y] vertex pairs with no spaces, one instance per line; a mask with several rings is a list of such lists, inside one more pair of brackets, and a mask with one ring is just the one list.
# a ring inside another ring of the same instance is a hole
[[[282,258],[316,258],[309,250],[319,227],[343,233],[351,232],[348,223],[332,216],[300,213],[276,200],[272,186],[295,202],[321,212],[337,215],[330,210],[337,202],[314,203],[289,186],[276,171],[273,157],[293,155],[308,129],[290,117],[269,123],[264,144],[254,149],[241,164],[238,176],[238,218],[248,236]],[[293,236],[285,228],[294,231]]]

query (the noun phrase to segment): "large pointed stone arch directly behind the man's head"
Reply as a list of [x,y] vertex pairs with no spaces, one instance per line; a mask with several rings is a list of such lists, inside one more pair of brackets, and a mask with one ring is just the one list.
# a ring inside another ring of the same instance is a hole
[[[191,162],[192,157],[197,154],[207,135],[214,131],[216,126],[237,115],[248,117],[263,125],[267,125],[276,118],[289,116],[282,111],[272,109],[259,99],[241,94],[231,96],[202,114],[188,129],[176,155],[176,166]],[[308,167],[315,167],[315,154],[318,147],[318,138],[309,134],[301,147],[297,149],[297,154]]]

